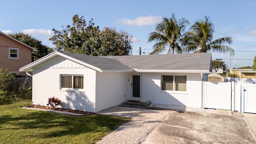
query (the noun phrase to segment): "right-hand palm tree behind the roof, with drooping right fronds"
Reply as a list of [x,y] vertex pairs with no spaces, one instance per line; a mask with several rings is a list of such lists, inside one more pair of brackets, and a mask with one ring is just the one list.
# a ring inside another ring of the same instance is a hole
[[231,37],[219,38],[212,41],[214,34],[214,25],[210,21],[210,18],[204,17],[205,20],[195,22],[189,32],[184,34],[182,41],[182,52],[220,52],[225,54],[230,52],[234,55],[234,49],[230,46],[225,46],[223,44],[232,44]]

